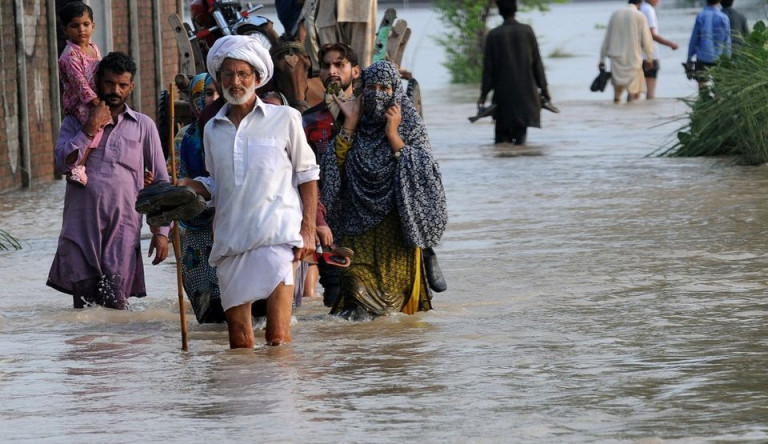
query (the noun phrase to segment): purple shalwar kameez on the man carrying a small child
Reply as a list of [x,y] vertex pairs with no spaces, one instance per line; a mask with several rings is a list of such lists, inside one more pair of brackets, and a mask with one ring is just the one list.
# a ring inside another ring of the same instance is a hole
[[[56,141],[56,169],[67,173],[85,154],[91,139],[73,116],[62,122]],[[75,163],[66,163],[79,151]],[[78,301],[126,308],[130,296],[146,296],[140,235],[142,215],[135,204],[145,167],[154,182],[168,171],[154,122],[125,107],[117,124],[104,128],[99,146],[86,161],[88,184],[67,183],[64,217],[47,284]],[[168,227],[152,228],[168,235]]]

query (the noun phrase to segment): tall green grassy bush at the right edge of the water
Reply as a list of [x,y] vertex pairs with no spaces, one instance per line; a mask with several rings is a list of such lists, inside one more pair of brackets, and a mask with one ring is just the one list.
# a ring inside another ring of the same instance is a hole
[[695,100],[677,142],[662,156],[739,156],[768,162],[768,28],[758,22],[733,57],[709,70],[711,84]]

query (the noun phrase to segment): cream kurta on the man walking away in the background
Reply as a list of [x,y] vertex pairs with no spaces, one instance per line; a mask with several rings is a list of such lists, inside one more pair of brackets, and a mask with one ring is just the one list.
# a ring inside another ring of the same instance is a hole
[[611,83],[625,87],[630,94],[645,90],[643,53],[653,60],[653,38],[648,22],[633,4],[611,15],[605,33],[600,61],[611,59]]

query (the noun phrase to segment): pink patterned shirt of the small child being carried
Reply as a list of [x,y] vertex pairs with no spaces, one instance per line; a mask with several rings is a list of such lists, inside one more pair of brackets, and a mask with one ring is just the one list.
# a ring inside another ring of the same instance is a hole
[[89,102],[97,97],[94,77],[101,60],[99,48],[93,42],[89,45],[96,51],[96,58],[84,53],[69,40],[59,57],[59,76],[64,85],[64,113],[74,115],[82,124],[88,121],[91,112]]

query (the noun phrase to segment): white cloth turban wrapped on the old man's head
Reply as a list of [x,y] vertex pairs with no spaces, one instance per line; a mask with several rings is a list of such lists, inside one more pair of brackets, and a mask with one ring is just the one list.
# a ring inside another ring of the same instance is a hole
[[272,72],[274,71],[272,56],[261,42],[253,37],[227,35],[213,43],[213,46],[208,51],[206,63],[208,65],[208,73],[217,81],[220,81],[217,74],[221,64],[224,63],[224,59],[242,60],[253,66],[253,69],[259,74],[259,79],[261,79],[256,88],[261,88],[272,78]]

